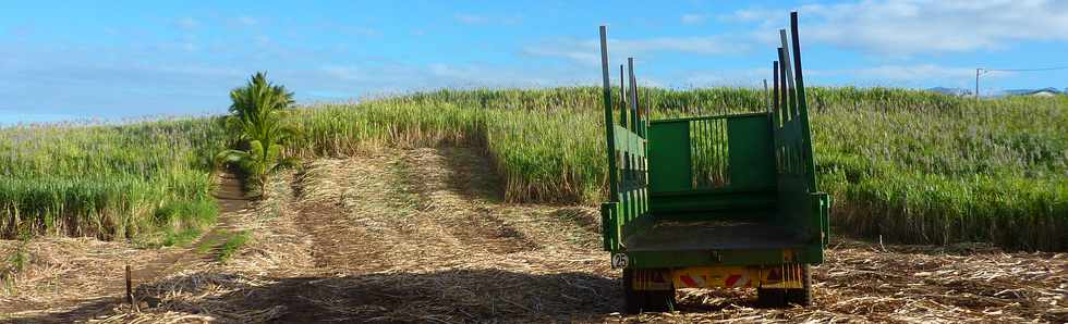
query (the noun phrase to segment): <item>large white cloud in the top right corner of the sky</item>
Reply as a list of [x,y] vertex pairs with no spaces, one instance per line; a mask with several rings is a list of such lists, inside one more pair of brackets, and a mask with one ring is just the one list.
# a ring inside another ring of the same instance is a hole
[[[802,5],[798,11],[802,39],[887,55],[990,50],[1024,40],[1068,40],[1068,1],[864,0]],[[750,9],[726,18],[758,21],[766,28],[778,28],[788,24],[785,12]]]

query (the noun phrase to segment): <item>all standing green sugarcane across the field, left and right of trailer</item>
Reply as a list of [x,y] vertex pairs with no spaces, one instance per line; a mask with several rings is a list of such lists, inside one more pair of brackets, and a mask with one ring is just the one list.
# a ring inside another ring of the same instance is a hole
[[[763,91],[643,89],[655,117],[764,111]],[[290,154],[474,145],[509,201],[605,192],[599,88],[440,90],[299,109]],[[818,184],[838,230],[906,242],[1068,249],[1068,99],[975,101],[810,88]],[[209,221],[210,119],[0,130],[0,233],[170,237]],[[165,235],[160,235],[160,233]]]

